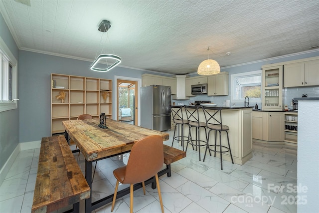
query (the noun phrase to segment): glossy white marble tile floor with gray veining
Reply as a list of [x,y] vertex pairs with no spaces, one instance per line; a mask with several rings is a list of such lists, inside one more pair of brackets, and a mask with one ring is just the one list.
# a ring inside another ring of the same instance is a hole
[[[169,132],[172,138],[172,131]],[[164,142],[171,145],[171,140]],[[182,149],[180,144],[174,147]],[[30,213],[35,185],[39,149],[21,151],[0,186],[0,213]],[[76,157],[84,171],[83,155]],[[113,170],[125,165],[129,154],[98,162],[92,185],[92,199],[114,193]],[[172,176],[160,177],[165,213],[296,213],[292,199],[297,186],[297,147],[255,142],[253,158],[243,166],[206,156],[198,161],[198,153],[187,150],[187,157],[171,165]],[[128,185],[120,185],[119,190]],[[151,186],[134,192],[134,212],[160,212],[158,191]],[[63,212],[59,210],[57,212]],[[130,211],[130,196],[118,199],[114,213]],[[80,203],[84,212],[84,202]],[[96,213],[111,212],[104,206]]]

